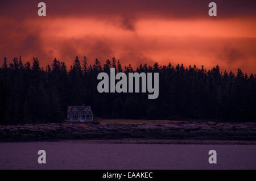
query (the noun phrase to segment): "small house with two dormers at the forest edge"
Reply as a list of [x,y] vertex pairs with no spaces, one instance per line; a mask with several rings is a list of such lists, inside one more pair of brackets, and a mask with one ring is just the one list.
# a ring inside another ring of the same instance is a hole
[[90,106],[69,106],[67,113],[69,121],[93,121],[93,113]]

